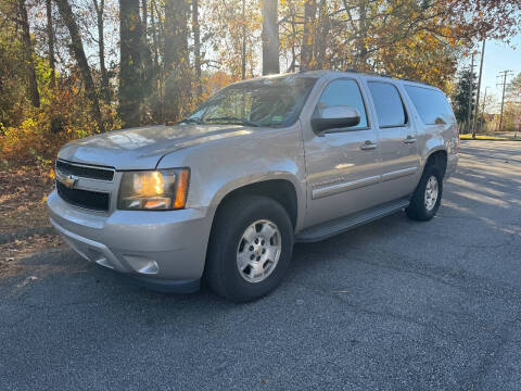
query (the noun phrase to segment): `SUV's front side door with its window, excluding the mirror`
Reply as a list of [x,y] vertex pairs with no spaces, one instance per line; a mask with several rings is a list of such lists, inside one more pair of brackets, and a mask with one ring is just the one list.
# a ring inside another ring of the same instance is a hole
[[355,79],[332,80],[323,89],[316,110],[350,105],[360,112],[355,128],[315,135],[309,122],[303,131],[307,171],[308,207],[305,226],[341,217],[379,203],[381,178],[378,133],[371,127],[366,104]]

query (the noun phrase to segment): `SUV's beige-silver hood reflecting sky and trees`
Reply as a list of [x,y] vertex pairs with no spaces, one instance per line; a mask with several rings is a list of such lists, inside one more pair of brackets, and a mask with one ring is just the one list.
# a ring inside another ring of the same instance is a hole
[[212,140],[240,137],[253,130],[242,125],[147,126],[109,131],[65,144],[59,159],[116,169],[154,169],[167,153]]

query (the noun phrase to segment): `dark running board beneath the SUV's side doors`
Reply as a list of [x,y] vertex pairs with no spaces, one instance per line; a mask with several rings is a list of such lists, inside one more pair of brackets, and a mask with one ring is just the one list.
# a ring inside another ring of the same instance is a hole
[[410,202],[408,199],[401,199],[355,213],[351,216],[340,217],[327,223],[318,224],[316,226],[306,228],[296,235],[295,241],[315,242],[323,240],[334,235],[345,232],[350,229],[396,213],[404,207],[409,206],[409,203]]

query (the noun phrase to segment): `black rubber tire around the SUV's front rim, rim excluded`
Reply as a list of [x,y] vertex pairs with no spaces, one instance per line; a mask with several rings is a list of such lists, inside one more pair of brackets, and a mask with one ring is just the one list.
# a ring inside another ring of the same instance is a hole
[[[280,232],[280,256],[268,277],[258,282],[244,279],[237,265],[239,241],[253,223],[267,219]],[[243,195],[229,201],[216,213],[206,255],[205,279],[220,297],[234,302],[259,299],[277,288],[290,265],[293,251],[293,225],[277,201],[259,195]]]

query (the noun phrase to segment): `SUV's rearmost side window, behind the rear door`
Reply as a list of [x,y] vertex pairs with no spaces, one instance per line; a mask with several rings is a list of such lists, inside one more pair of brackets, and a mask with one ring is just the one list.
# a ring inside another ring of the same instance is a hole
[[423,124],[433,125],[439,117],[453,118],[453,109],[441,91],[414,86],[405,86],[405,90]]

